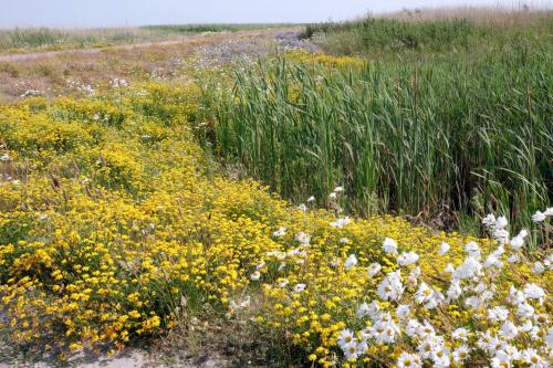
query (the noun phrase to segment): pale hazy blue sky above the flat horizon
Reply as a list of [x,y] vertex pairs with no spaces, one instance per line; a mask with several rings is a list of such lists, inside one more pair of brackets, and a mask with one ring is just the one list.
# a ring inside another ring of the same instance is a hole
[[[514,0],[518,1],[518,0]],[[0,28],[102,27],[205,22],[313,22],[371,11],[513,0],[0,0]],[[530,0],[530,2],[535,0]],[[552,0],[553,1],[553,0]]]

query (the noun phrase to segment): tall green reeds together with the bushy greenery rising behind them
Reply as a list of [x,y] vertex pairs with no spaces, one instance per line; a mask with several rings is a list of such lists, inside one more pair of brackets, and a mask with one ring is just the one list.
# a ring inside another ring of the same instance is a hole
[[[489,211],[523,224],[551,203],[547,36],[468,21],[366,24],[367,39],[380,41],[356,49],[378,52],[364,67],[284,56],[238,71],[217,115],[219,155],[299,202],[314,194],[322,204],[342,185],[354,213],[420,215],[441,228],[478,228],[466,214]],[[407,33],[413,48],[386,49]]]

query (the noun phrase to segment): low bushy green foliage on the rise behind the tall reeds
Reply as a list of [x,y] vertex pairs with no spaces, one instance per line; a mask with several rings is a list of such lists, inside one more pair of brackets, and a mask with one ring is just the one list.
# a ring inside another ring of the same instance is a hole
[[330,53],[362,55],[374,59],[404,52],[432,54],[473,52],[490,45],[508,45],[519,38],[539,39],[550,43],[553,15],[545,23],[529,23],[524,28],[477,24],[468,19],[406,22],[395,19],[364,18],[343,23],[310,24],[303,33],[312,38],[322,33],[322,48]]

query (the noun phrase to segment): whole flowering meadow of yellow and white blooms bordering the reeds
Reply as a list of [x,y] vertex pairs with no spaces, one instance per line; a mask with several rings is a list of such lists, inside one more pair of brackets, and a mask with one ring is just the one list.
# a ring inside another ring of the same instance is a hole
[[486,236],[348,217],[340,181],[292,204],[212,157],[204,77],[223,90],[231,73],[190,73],[0,106],[0,319],[14,345],[115,353],[209,305],[304,366],[550,366],[549,203],[526,228],[477,218]]

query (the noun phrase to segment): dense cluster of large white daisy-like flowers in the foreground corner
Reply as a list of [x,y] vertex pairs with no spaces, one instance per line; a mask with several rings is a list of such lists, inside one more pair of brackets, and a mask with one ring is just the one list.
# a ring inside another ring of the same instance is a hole
[[[532,220],[543,222],[551,215],[553,208],[538,211]],[[528,261],[522,252],[528,231],[511,238],[504,217],[489,214],[482,223],[497,240],[497,249],[484,251],[476,242],[467,243],[465,260],[457,267],[448,264],[445,271],[449,280],[444,281],[421,274],[419,255],[399,253],[397,242],[386,238],[382,248],[396,257],[399,267],[384,275],[377,299],[358,306],[356,317],[364,327],[340,333],[337,345],[344,357],[357,359],[367,354],[371,345],[399,344],[405,349],[397,357],[398,368],[470,366],[476,360],[492,368],[549,367],[553,359],[553,327],[546,288],[551,285],[521,282],[500,292],[497,284],[505,265],[522,261],[545,282],[552,280],[544,273],[552,270],[553,256]],[[449,250],[450,245],[442,243],[438,254]],[[355,254],[347,257],[345,265],[357,265]],[[368,276],[376,276],[382,269],[378,263],[371,264]],[[470,313],[470,325],[434,326],[428,319],[440,318],[418,317],[441,316],[449,304]]]

